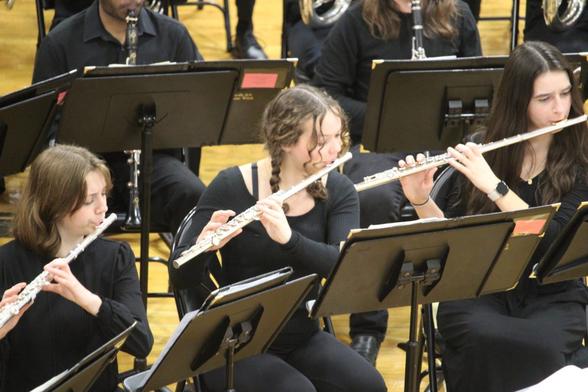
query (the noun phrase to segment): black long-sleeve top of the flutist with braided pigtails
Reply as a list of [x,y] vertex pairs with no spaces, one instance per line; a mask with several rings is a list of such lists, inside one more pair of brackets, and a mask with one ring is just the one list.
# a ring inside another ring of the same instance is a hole
[[[220,249],[223,262],[220,285],[286,266],[293,268],[293,278],[312,273],[326,277],[339,255],[339,243],[346,239],[350,229],[359,227],[359,201],[352,182],[340,173],[330,172],[326,189],[329,197],[325,202],[316,202],[312,210],[303,215],[287,217],[292,229],[288,243],[274,242],[260,222],[252,222],[225,244]],[[186,238],[193,239],[192,243],[178,247],[171,260],[193,245],[213,212],[231,209],[239,214],[256,202],[238,167],[222,170],[198,202],[198,210],[186,234]],[[173,286],[179,289],[197,286],[210,262],[216,262],[216,252],[202,253],[179,269],[169,267]],[[316,299],[318,289],[317,284],[308,299]],[[310,333],[318,328],[318,321],[309,319],[304,306],[303,301],[282,334]]]

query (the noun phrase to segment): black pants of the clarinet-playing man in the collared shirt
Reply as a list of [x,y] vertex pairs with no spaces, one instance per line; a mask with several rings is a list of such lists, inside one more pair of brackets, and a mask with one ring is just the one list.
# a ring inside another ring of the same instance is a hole
[[[126,211],[129,192],[129,166],[122,153],[105,154],[112,171],[114,187],[109,208]],[[151,175],[151,225],[175,234],[183,218],[198,203],[205,186],[178,159],[166,153],[153,153]],[[142,202],[142,200],[139,200]]]

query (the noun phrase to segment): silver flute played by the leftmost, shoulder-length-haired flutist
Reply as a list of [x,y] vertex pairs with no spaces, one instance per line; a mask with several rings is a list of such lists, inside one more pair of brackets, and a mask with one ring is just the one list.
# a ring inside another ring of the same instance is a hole
[[[116,214],[111,214],[103,220],[100,226],[96,227],[92,234],[86,236],[81,243],[77,244],[74,249],[69,251],[68,255],[65,257],[65,261],[69,264],[72,260],[78,257],[79,254],[82,253],[83,250],[86,249],[86,247],[88,247],[88,245],[115,220]],[[46,271],[42,272],[31,283],[27,284],[24,289],[22,289],[18,294],[16,301],[5,304],[5,306],[0,309],[0,328],[4,327],[4,325],[8,323],[8,320],[12,319],[12,316],[16,316],[26,304],[34,300],[36,294],[38,294],[44,286],[49,284],[51,278],[52,275],[50,273]]]

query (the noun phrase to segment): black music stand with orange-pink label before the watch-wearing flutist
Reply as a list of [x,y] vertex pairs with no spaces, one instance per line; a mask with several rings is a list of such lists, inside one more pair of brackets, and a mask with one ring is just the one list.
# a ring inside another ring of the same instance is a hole
[[[418,304],[479,297],[497,287],[512,288],[555,210],[555,206],[544,206],[353,230],[310,315],[316,318],[410,305],[405,391],[418,391]],[[436,390],[431,320],[429,305],[425,309],[429,377],[432,390]]]

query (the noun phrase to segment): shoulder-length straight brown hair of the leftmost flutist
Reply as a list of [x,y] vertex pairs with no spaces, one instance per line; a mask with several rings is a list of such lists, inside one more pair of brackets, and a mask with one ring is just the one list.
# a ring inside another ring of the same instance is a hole
[[112,188],[106,163],[85,148],[55,145],[31,166],[12,221],[12,235],[28,249],[54,257],[61,246],[57,222],[80,209],[87,195],[86,176],[97,171]]

